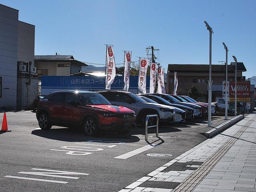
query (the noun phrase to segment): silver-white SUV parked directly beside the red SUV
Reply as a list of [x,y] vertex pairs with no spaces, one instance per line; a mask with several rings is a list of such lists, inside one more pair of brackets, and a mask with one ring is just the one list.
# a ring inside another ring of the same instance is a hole
[[[145,125],[146,116],[157,114],[160,123],[173,123],[175,121],[174,108],[171,106],[159,106],[158,104],[147,103],[138,95],[127,91],[98,91],[112,104],[124,106],[133,110],[136,114],[138,124]],[[155,124],[152,118],[148,122],[148,126]]]

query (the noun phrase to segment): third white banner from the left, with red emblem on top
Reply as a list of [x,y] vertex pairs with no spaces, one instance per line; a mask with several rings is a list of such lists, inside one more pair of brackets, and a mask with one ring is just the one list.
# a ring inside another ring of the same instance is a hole
[[138,89],[142,93],[146,93],[146,75],[148,69],[148,59],[139,59],[139,78],[138,78]]

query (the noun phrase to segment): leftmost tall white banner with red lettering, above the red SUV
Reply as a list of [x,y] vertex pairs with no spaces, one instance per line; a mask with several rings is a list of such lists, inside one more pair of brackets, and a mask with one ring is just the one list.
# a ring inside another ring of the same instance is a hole
[[112,45],[107,45],[106,50],[106,89],[111,88],[116,76],[116,64]]

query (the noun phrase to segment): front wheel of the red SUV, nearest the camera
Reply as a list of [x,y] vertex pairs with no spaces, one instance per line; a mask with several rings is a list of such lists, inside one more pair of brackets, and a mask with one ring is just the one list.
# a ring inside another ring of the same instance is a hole
[[83,124],[84,134],[87,136],[96,136],[99,133],[99,126],[97,120],[92,117],[86,117]]

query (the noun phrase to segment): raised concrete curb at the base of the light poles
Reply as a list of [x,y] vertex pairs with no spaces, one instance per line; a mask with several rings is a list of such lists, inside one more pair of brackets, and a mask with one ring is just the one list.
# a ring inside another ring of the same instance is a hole
[[218,125],[217,127],[211,129],[210,131],[204,133],[204,135],[208,138],[211,138],[212,136],[215,136],[216,134],[219,134],[220,132],[224,131],[226,128],[236,124],[243,118],[244,118],[244,114],[235,116],[235,117],[227,120],[226,122]]

